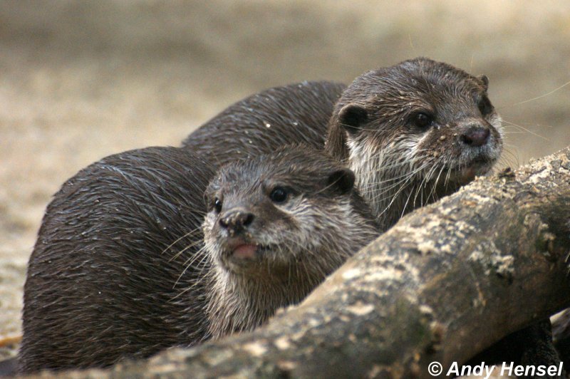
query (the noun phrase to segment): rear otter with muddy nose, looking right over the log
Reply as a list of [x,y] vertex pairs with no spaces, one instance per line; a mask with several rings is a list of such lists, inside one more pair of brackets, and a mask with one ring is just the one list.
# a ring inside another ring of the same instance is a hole
[[[356,173],[385,230],[497,162],[502,124],[488,85],[487,76],[415,58],[365,73],[344,89],[307,82],[266,90],[202,125],[182,147],[220,164],[288,143],[325,149]],[[301,107],[304,99],[309,105]],[[279,128],[264,122],[273,112]]]

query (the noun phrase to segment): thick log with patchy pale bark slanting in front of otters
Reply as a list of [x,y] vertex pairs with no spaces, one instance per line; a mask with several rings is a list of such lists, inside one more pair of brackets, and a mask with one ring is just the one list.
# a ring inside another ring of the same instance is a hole
[[566,149],[409,214],[257,331],[91,375],[431,378],[569,306],[569,251]]

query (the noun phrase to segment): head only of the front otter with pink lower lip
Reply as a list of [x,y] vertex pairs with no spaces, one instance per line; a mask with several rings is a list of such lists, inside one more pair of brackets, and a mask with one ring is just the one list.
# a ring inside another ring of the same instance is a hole
[[320,281],[353,252],[336,251],[352,244],[350,223],[361,224],[354,178],[331,157],[300,147],[227,165],[205,194],[212,264],[259,281],[288,281],[291,270]]

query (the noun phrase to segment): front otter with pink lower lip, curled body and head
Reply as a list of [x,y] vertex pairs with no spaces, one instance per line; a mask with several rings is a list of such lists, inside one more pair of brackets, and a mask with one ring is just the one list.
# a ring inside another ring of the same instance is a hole
[[[48,206],[28,264],[19,372],[105,367],[244,330],[239,318],[223,325],[221,302],[232,294],[212,279],[222,274],[217,259],[204,256],[204,239],[209,251],[214,244],[226,249],[249,243],[218,256],[228,264],[240,251],[249,254],[242,263],[251,267],[252,256],[263,251],[256,267],[271,266],[274,279],[266,276],[264,283],[275,292],[269,303],[257,303],[261,316],[248,321],[252,328],[279,306],[301,301],[378,234],[353,190],[353,172],[310,147],[235,163],[207,187],[211,177],[207,162],[190,152],[149,147],[106,157],[63,185]],[[267,185],[274,188],[266,204],[249,207],[246,200],[263,199]],[[224,199],[223,208],[219,199],[212,203],[214,192]],[[223,215],[213,213],[217,207]],[[240,221],[237,209],[249,209],[255,215],[248,217],[257,219]],[[221,221],[208,224],[215,217]],[[254,229],[260,224],[263,230]],[[261,239],[269,225],[283,228],[280,238]],[[232,238],[219,237],[224,232],[218,227]],[[249,296],[248,281],[237,282],[243,284],[239,294]]]

